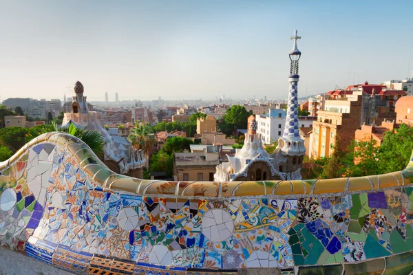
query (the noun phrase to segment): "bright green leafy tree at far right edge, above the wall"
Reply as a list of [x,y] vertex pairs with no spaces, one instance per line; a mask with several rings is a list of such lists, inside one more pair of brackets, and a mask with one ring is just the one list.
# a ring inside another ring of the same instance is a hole
[[387,131],[381,142],[377,158],[381,173],[403,170],[413,150],[413,127],[401,124],[393,133]]

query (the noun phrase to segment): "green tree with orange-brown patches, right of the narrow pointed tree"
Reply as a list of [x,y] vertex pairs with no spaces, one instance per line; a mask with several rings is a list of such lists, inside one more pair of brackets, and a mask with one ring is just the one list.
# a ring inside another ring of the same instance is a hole
[[359,142],[352,140],[346,154],[346,176],[361,177],[379,174],[378,152],[376,140]]

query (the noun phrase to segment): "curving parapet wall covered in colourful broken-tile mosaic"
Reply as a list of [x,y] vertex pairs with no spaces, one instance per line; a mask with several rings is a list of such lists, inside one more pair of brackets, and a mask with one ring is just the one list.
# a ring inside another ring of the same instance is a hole
[[77,274],[413,271],[413,159],[359,178],[149,181],[47,133],[0,170],[1,247]]

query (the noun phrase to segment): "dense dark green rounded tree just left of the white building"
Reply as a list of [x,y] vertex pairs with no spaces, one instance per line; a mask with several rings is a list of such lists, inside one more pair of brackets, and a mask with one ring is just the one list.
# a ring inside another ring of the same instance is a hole
[[236,129],[247,129],[248,116],[252,114],[253,111],[246,111],[244,106],[233,105],[226,110],[225,115],[218,122],[218,126],[222,133],[233,135]]

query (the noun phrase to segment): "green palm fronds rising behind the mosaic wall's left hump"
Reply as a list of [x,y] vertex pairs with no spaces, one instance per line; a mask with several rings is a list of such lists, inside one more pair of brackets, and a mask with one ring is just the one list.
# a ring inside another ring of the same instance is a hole
[[92,151],[100,157],[101,154],[103,153],[103,147],[105,146],[105,138],[99,131],[89,131],[89,130],[84,130],[76,127],[73,123],[70,124],[68,127],[61,127],[58,128],[56,122],[52,123],[47,123],[39,126],[34,126],[33,128],[30,128],[28,133],[25,135],[25,142],[30,142],[30,140],[34,139],[35,137],[38,137],[39,135],[43,133],[49,133],[49,132],[64,132],[68,133],[70,135],[74,135],[75,137],[78,137],[81,139],[89,148],[92,149]]

